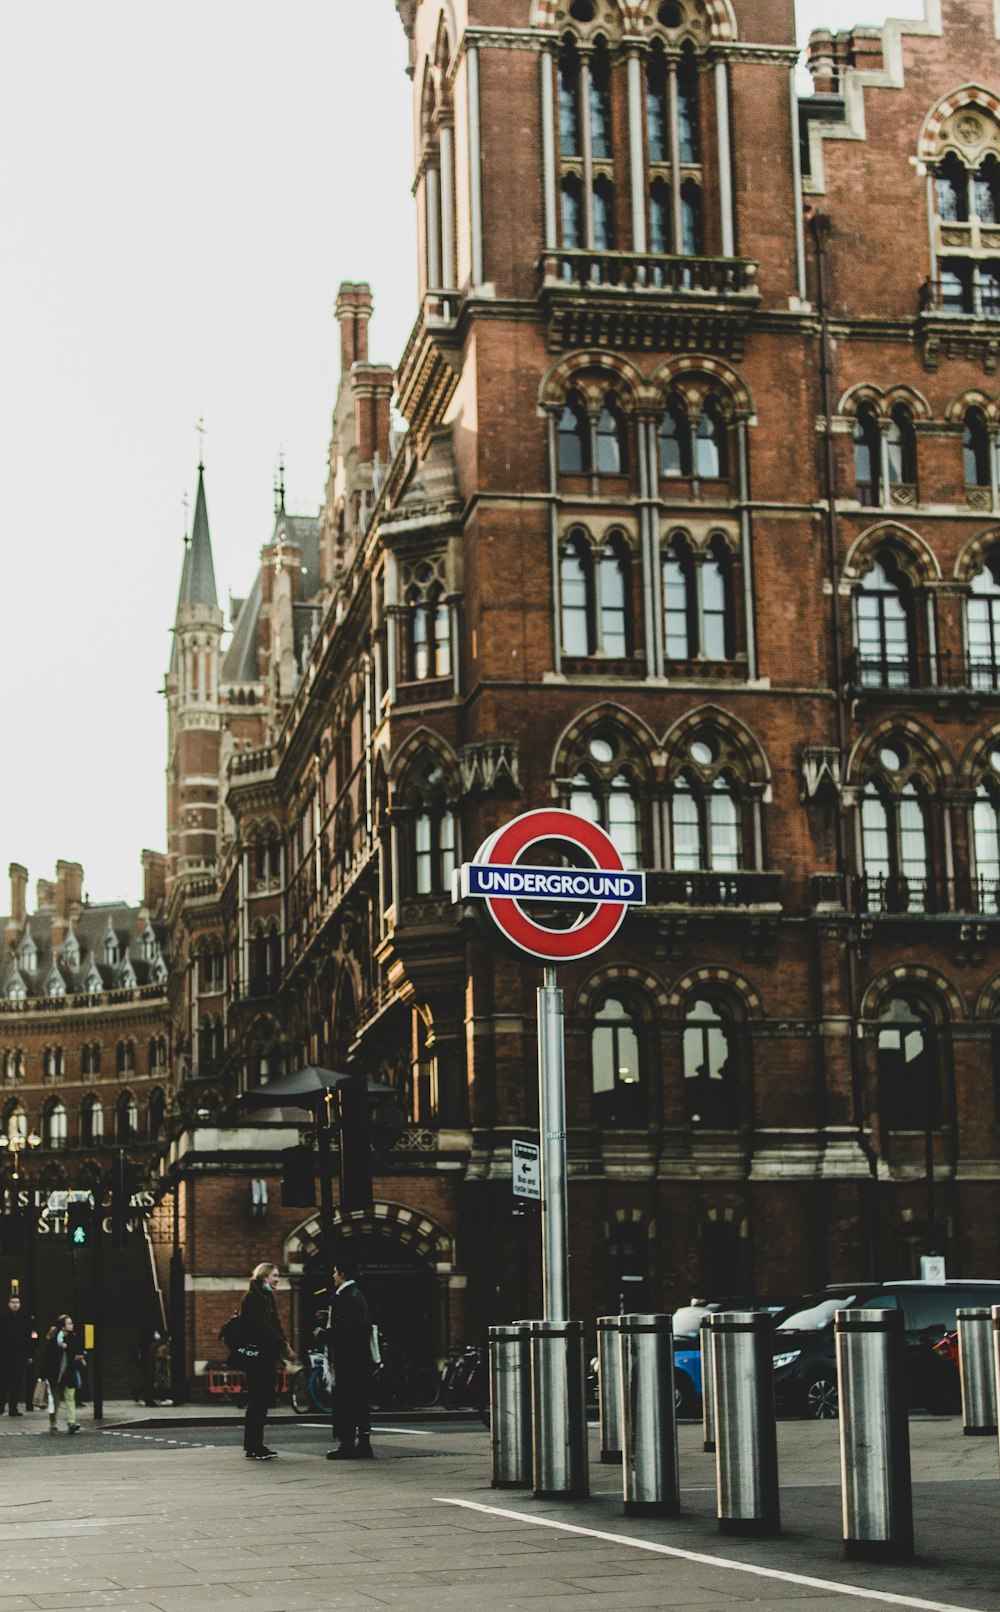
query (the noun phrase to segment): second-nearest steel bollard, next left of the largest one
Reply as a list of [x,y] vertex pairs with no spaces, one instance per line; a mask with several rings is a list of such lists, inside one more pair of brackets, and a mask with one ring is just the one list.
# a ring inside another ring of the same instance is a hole
[[748,1311],[723,1311],[708,1317],[708,1332],[715,1383],[719,1531],[779,1533],[771,1317]]

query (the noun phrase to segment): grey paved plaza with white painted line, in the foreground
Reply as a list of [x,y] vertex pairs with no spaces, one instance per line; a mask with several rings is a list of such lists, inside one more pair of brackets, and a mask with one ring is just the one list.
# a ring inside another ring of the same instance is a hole
[[784,1533],[750,1543],[718,1533],[695,1423],[682,1515],[639,1520],[597,1460],[590,1501],[490,1489],[484,1428],[442,1414],[376,1422],[379,1459],[352,1464],[323,1459],[326,1428],[281,1419],[281,1459],[260,1465],[235,1414],[140,1415],[111,1407],[76,1438],[37,1414],[0,1420],[0,1612],[1000,1612],[997,1441],[955,1417],[911,1422],[918,1560],[873,1567],[842,1557],[835,1423],[779,1425]]

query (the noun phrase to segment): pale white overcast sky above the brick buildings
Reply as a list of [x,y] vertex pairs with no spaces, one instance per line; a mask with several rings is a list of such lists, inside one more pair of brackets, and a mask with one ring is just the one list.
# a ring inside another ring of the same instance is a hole
[[[921,0],[800,0],[824,23]],[[163,672],[200,416],[219,598],[323,500],[342,279],[373,358],[415,313],[410,84],[392,0],[0,0],[6,864],[94,899],[165,848]]]

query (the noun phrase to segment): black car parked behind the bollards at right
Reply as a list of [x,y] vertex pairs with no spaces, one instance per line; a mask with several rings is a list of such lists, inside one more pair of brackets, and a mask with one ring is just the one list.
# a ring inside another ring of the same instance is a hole
[[939,1414],[956,1410],[956,1369],[934,1352],[934,1344],[955,1332],[955,1311],[973,1304],[1000,1304],[1000,1282],[856,1282],[813,1293],[774,1332],[777,1409],[803,1417],[835,1417],[834,1311],[902,1309],[910,1406]]

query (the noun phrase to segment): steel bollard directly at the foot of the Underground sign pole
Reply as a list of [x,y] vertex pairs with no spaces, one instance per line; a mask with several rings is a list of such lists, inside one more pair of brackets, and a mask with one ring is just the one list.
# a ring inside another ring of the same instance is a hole
[[531,1323],[531,1462],[539,1499],[582,1499],[587,1472],[587,1380],[579,1320]]

